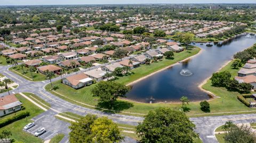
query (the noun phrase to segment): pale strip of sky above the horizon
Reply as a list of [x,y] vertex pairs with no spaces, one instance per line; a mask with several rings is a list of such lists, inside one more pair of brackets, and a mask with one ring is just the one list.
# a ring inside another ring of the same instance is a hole
[[255,0],[0,0],[0,5],[256,3]]

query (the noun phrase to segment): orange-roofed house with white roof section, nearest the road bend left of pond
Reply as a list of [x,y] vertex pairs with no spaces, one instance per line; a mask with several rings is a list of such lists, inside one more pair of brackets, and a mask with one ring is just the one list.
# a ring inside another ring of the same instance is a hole
[[91,85],[93,83],[93,79],[89,78],[85,73],[79,73],[63,79],[62,83],[72,88],[79,89]]

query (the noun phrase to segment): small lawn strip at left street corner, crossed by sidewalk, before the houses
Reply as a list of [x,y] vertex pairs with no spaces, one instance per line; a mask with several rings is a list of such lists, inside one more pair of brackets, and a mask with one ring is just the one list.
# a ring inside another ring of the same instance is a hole
[[10,68],[10,71],[12,71],[15,74],[18,74],[19,76],[21,76],[21,77],[23,77],[23,78],[25,78],[29,81],[43,81],[43,80],[46,80],[44,74],[32,72],[32,74],[34,76],[34,80],[33,80],[33,78],[31,77],[31,73],[30,73],[29,69],[27,67],[24,67],[23,70],[25,72],[24,74],[23,74],[22,68],[20,66],[17,66],[16,68],[14,68],[14,67]]

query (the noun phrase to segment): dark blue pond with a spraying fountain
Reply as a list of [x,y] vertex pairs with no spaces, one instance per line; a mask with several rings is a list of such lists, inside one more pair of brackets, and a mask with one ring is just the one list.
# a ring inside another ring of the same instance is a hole
[[222,44],[212,43],[211,47],[196,43],[195,46],[202,49],[201,54],[135,83],[126,96],[145,103],[177,102],[182,96],[187,96],[190,101],[209,99],[198,85],[231,60],[235,53],[254,43],[256,36],[241,36]]

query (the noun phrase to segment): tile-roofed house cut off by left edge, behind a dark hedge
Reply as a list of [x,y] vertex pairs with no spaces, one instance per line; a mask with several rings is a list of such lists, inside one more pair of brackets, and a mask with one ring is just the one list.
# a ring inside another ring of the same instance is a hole
[[21,105],[14,94],[0,97],[0,117],[21,110]]

